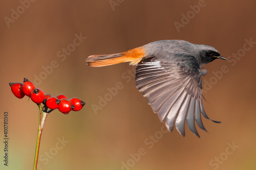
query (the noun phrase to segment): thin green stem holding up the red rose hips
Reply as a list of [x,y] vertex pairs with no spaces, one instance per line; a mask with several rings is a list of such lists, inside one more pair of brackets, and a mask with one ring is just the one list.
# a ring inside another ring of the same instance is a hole
[[[36,140],[36,149],[35,149],[35,159],[34,159],[34,168],[33,170],[37,169],[37,162],[38,162],[38,154],[39,154],[39,147],[40,147],[40,140],[42,135],[42,129],[44,128],[46,117],[48,115],[47,112],[42,111],[41,105],[37,105],[39,107],[39,128],[37,133],[37,140]],[[41,116],[42,113],[42,116]]]

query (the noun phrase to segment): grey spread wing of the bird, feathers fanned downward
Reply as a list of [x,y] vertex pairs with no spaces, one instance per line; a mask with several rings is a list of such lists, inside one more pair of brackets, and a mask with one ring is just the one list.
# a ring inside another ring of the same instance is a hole
[[136,87],[146,96],[147,103],[158,114],[161,122],[165,120],[170,132],[175,124],[176,129],[184,136],[186,121],[188,128],[199,137],[195,120],[206,131],[201,113],[207,119],[209,117],[203,107],[202,77],[195,57],[173,57],[172,61],[160,61],[156,57],[143,59],[137,64],[135,80]]

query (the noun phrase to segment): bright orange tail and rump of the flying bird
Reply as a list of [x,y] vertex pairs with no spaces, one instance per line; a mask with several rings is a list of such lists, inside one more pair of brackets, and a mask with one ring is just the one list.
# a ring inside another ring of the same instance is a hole
[[91,67],[101,67],[106,65],[113,65],[123,62],[130,62],[130,65],[138,64],[146,54],[142,47],[137,47],[132,50],[109,54],[109,55],[92,55],[86,60],[87,65]]

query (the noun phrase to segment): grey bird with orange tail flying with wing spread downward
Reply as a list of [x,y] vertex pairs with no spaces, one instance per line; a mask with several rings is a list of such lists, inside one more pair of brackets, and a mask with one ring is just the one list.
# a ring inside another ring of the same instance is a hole
[[122,62],[136,65],[136,87],[142,91],[161,122],[165,121],[168,131],[172,132],[175,125],[184,136],[187,122],[188,128],[200,137],[195,122],[206,131],[201,113],[210,119],[203,107],[200,67],[215,59],[227,60],[208,45],[184,40],[160,40],[123,53],[92,55],[86,61],[91,67]]

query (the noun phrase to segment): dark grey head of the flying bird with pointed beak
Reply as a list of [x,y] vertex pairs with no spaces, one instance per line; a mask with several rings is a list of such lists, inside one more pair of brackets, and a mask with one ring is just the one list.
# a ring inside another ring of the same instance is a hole
[[222,57],[214,47],[208,45],[199,45],[199,50],[197,60],[200,66],[214,61],[215,59],[227,60],[226,58]]

